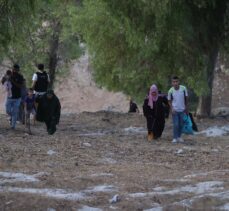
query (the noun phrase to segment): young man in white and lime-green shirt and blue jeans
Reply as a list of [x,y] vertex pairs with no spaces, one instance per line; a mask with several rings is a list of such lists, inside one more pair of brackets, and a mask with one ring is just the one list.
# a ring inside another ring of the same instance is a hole
[[173,119],[172,143],[184,142],[184,140],[181,138],[181,133],[184,124],[184,114],[188,114],[187,97],[188,92],[186,87],[180,85],[179,78],[174,76],[172,78],[172,87],[168,91],[168,100]]

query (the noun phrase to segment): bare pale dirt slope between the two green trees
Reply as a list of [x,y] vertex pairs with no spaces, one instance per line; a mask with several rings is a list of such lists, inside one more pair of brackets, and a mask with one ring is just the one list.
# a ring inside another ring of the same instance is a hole
[[127,97],[119,93],[98,88],[89,68],[89,58],[85,54],[71,68],[65,79],[59,78],[56,93],[61,100],[64,113],[79,113],[82,111],[128,111]]

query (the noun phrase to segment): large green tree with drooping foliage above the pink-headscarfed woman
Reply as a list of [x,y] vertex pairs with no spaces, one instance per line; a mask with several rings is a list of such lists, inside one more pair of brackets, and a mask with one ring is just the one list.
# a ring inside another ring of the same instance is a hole
[[165,89],[178,74],[200,96],[199,108],[208,106],[199,115],[209,115],[227,14],[227,0],[85,0],[74,24],[100,84],[140,99],[152,82]]

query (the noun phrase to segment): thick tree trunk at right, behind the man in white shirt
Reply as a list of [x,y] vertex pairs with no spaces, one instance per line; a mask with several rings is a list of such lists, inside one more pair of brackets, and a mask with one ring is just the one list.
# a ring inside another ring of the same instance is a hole
[[217,56],[219,48],[215,47],[209,54],[208,68],[207,68],[207,83],[209,91],[206,95],[199,97],[196,115],[199,118],[209,117],[211,115],[211,103],[212,103],[212,87],[214,80],[214,70],[216,66]]

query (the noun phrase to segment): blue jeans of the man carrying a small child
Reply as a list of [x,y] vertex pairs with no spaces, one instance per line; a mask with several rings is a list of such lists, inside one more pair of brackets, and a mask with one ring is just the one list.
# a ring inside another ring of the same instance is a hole
[[21,98],[16,98],[16,99],[8,98],[6,101],[6,113],[11,117],[10,126],[12,128],[15,128],[16,126],[20,103],[21,103]]

